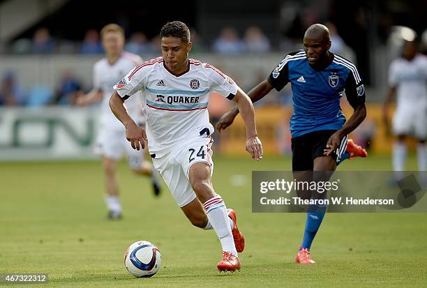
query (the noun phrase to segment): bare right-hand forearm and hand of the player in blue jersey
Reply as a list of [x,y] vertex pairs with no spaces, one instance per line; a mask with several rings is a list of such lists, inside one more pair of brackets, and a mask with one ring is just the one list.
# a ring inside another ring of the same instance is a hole
[[324,149],[324,155],[329,156],[332,152],[334,152],[338,147],[340,146],[341,139],[345,135],[350,134],[354,129],[357,128],[357,126],[364,121],[366,118],[366,105],[365,103],[359,104],[356,109],[354,109],[354,112],[350,119],[348,119],[347,122],[345,122],[343,128],[336,131],[331,137],[329,137],[327,142],[327,147]]

